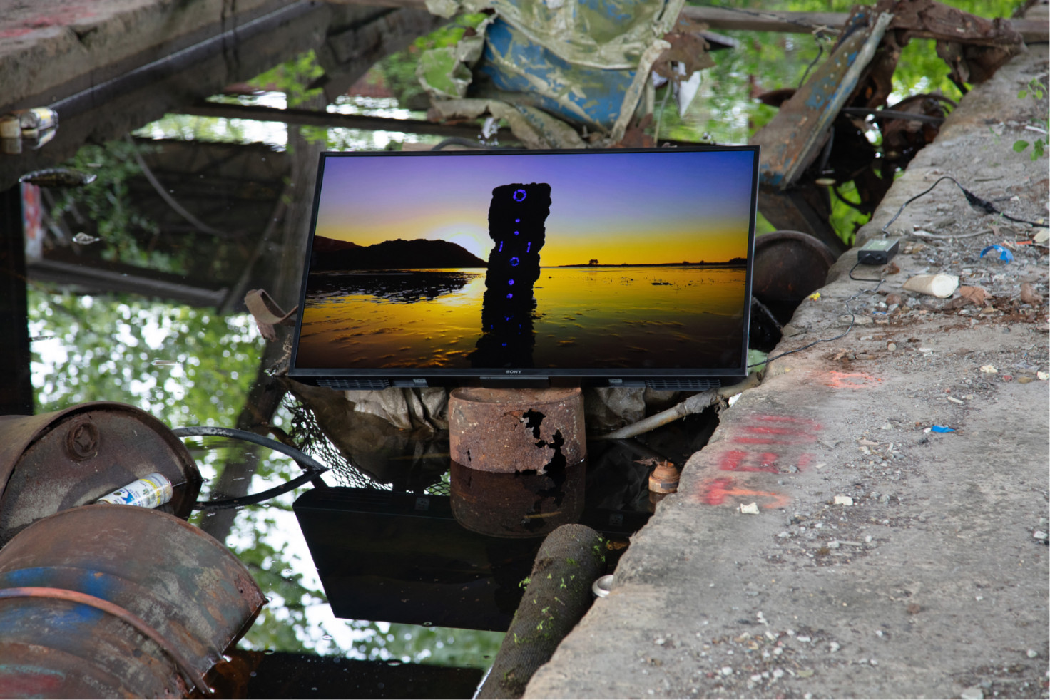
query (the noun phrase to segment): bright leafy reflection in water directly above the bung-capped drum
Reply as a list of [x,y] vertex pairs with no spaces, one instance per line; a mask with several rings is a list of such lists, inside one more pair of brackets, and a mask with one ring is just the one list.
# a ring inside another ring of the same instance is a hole
[[250,317],[132,296],[28,292],[30,333],[52,337],[34,343],[41,412],[121,401],[173,426],[236,421],[258,366]]

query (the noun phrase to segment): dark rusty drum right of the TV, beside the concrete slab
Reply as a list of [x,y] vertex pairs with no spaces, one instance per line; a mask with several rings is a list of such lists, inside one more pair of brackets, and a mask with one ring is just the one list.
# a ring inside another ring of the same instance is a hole
[[835,264],[832,249],[799,231],[774,231],[755,237],[751,292],[763,303],[801,301],[824,285]]

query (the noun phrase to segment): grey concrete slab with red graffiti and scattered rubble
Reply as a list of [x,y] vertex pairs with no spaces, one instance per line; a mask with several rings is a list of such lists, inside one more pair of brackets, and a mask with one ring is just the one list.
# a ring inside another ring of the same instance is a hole
[[[1011,148],[1045,119],[1045,99],[1017,99],[1040,76],[1033,47],[964,98],[861,240],[943,174],[1046,217],[1046,158]],[[1047,249],[982,260],[1038,229],[975,213],[947,182],[890,231],[900,272],[872,292],[843,255],[773,355],[800,352],[721,413],[525,697],[1048,696]],[[985,307],[901,289],[939,271],[987,290]],[[850,314],[847,335],[802,349]]]

